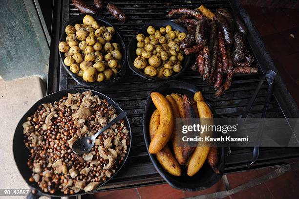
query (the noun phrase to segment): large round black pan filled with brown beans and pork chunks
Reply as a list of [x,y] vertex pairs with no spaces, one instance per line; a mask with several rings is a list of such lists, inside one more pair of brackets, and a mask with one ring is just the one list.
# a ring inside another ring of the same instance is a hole
[[34,190],[31,197],[81,195],[115,176],[130,150],[127,117],[99,135],[88,154],[75,154],[72,144],[97,133],[121,112],[107,96],[84,88],[58,91],[35,103],[13,140],[17,167]]

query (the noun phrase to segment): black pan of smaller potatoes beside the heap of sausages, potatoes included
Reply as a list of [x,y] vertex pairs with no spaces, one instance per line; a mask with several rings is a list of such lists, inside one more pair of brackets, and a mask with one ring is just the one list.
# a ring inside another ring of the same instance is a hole
[[[184,27],[168,20],[148,22],[128,44],[129,68],[148,80],[165,82],[176,79],[188,68],[191,61],[191,56],[185,55],[179,49],[179,41],[184,38],[180,35],[185,34]],[[171,38],[168,38],[169,36]],[[172,47],[170,42],[176,47]],[[160,58],[156,57],[157,55]]]

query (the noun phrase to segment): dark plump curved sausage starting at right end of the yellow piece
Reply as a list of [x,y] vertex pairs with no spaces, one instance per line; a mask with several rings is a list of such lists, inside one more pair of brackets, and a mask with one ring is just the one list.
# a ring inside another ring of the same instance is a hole
[[221,29],[223,37],[225,39],[225,43],[228,45],[234,44],[234,35],[230,25],[228,24],[225,17],[219,14],[215,14],[214,20],[218,23],[218,26]]

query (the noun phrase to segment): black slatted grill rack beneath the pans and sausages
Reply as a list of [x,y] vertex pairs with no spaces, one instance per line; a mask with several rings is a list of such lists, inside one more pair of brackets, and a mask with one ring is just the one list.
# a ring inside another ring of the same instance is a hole
[[[87,0],[86,2],[88,4],[93,4],[93,1]],[[105,4],[107,3],[106,1],[104,2]],[[167,13],[174,8],[197,8],[201,4],[205,4],[206,7],[212,11],[215,11],[215,8],[217,7],[226,7],[229,10],[235,10],[241,14],[245,23],[249,27],[249,45],[252,47],[253,53],[256,55],[258,63],[261,66],[258,73],[252,75],[234,75],[231,88],[227,90],[221,98],[216,98],[214,96],[215,90],[213,86],[203,82],[196,71],[188,70],[178,79],[192,83],[200,88],[204,96],[218,114],[218,117],[233,117],[242,115],[247,102],[251,98],[257,83],[263,75],[263,71],[266,71],[267,69],[276,70],[269,53],[265,50],[265,46],[261,41],[260,35],[252,24],[246,11],[237,1],[168,0],[164,2],[157,0],[113,0],[112,3],[128,13],[130,16],[129,22],[118,22],[106,10],[102,12],[102,15],[110,20],[114,27],[120,32],[126,45],[128,45],[128,42],[132,39],[135,33],[138,32],[147,22],[151,20],[169,19],[167,17]],[[79,11],[74,7],[71,0],[54,1],[49,77],[47,84],[48,94],[57,90],[81,87],[75,83],[75,81],[62,67],[57,47],[61,31],[64,31],[62,30],[63,24],[78,14]],[[176,18],[177,16],[170,19],[172,20]],[[107,94],[128,112],[129,122],[132,127],[132,147],[126,166],[117,175],[117,177],[107,183],[107,185],[101,187],[99,190],[121,189],[126,187],[165,183],[149,160],[142,134],[142,114],[146,98],[149,91],[158,85],[159,83],[151,82],[137,76],[128,68],[125,77],[120,83],[117,83],[108,89],[96,89],[97,91]],[[260,116],[263,104],[265,103],[267,87],[267,83],[264,82],[252,110],[250,111],[250,117]],[[290,94],[279,77],[276,89],[274,90],[274,95],[275,96],[272,97],[269,106],[268,117],[298,117],[298,107],[294,100],[290,97]],[[281,165],[291,158],[298,157],[299,150],[295,148],[262,148],[260,150],[258,161],[249,168],[248,164],[252,160],[252,149],[232,149],[231,155],[226,157],[225,173]]]

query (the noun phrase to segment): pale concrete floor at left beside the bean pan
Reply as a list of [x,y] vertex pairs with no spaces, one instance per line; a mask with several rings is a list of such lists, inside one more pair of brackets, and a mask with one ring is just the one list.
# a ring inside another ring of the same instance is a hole
[[[0,188],[28,188],[15,165],[12,142],[15,128],[23,114],[44,95],[39,77],[5,82],[0,78]],[[0,199],[5,197],[0,197]],[[24,197],[9,197],[21,199]]]

